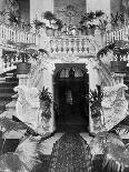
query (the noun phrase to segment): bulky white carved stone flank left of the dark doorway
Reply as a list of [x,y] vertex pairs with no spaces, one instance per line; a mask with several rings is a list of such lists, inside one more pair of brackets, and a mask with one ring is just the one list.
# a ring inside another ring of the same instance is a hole
[[33,130],[37,130],[39,123],[41,123],[38,89],[18,85],[14,91],[18,91],[19,94],[16,104],[17,118]]

